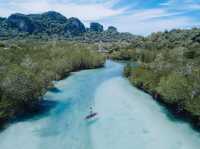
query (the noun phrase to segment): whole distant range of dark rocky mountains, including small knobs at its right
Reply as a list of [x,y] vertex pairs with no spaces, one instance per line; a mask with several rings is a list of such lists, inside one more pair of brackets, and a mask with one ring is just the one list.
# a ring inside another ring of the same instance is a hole
[[104,31],[103,25],[92,22],[86,28],[78,18],[66,18],[55,11],[42,14],[15,13],[8,18],[0,18],[0,39],[10,38],[61,38],[84,41],[116,41],[130,40],[132,34],[119,33],[117,28],[111,26]]

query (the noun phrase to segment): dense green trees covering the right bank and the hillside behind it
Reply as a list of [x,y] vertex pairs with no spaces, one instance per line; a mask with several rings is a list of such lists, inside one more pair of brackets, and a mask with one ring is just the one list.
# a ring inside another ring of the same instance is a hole
[[125,76],[155,99],[187,113],[200,126],[200,29],[171,30],[138,37],[109,56],[137,62]]

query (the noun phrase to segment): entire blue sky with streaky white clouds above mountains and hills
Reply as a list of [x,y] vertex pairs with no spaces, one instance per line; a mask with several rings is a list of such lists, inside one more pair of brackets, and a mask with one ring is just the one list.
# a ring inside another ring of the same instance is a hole
[[4,17],[49,10],[78,17],[86,25],[98,21],[140,35],[200,25],[200,0],[0,0]]

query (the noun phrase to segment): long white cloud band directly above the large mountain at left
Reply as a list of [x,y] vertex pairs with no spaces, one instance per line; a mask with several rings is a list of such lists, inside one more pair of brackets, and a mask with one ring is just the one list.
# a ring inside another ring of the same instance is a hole
[[[0,5],[0,16],[8,16],[13,12],[21,13],[40,13],[44,11],[54,10],[62,13],[66,17],[78,17],[81,20],[98,20],[105,17],[116,16],[122,14],[125,9],[112,9],[116,1],[108,1],[105,3],[73,3],[59,2],[50,0],[34,0],[25,1],[13,0],[8,2],[7,8],[3,9]],[[5,8],[5,6],[4,6]]]

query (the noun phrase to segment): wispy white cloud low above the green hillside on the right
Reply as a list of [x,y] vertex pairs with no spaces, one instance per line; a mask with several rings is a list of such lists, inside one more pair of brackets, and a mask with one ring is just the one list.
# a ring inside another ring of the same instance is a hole
[[140,35],[199,24],[199,22],[195,22],[189,17],[179,16],[179,13],[171,13],[165,9],[138,10],[132,14],[102,20],[102,22],[106,26],[117,26],[120,31]]

